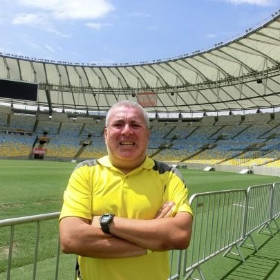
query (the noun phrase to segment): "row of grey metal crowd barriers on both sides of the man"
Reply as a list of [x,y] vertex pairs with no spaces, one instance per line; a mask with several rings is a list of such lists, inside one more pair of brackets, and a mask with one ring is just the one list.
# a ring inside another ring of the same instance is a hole
[[[200,265],[212,259],[213,256],[221,252],[225,252],[224,255],[226,255],[233,248],[236,248],[237,254],[242,261],[245,261],[241,245],[248,237],[254,245],[252,232],[268,228],[273,236],[270,225],[272,221],[276,225],[276,230],[280,231],[277,224],[277,218],[280,216],[280,183],[252,186],[247,190],[233,189],[194,194],[189,202],[194,212],[192,240],[187,250],[172,250],[170,252],[171,275],[169,279],[190,279],[195,270],[198,270],[201,279],[205,279]],[[35,223],[36,225],[32,270],[32,279],[35,280],[41,223],[58,219],[58,217],[59,212],[55,212],[0,221],[0,228],[10,227],[6,280],[11,279],[15,227],[26,223]],[[255,245],[254,248],[258,250]],[[59,261],[61,260],[58,230],[57,248],[54,255],[56,261],[55,267],[52,268],[54,272],[52,279],[57,280]],[[73,279],[75,279],[74,266]]]

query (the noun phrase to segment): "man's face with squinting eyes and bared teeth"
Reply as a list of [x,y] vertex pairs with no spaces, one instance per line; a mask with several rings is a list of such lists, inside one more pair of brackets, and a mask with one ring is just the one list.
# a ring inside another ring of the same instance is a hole
[[130,162],[135,168],[143,162],[147,154],[149,129],[142,111],[124,106],[113,109],[104,136],[113,165],[122,168]]

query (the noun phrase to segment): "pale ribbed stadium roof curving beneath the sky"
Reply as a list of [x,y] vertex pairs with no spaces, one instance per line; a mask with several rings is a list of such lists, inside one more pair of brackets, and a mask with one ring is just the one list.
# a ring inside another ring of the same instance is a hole
[[127,99],[149,112],[273,108],[280,106],[280,15],[242,37],[169,60],[101,66],[1,54],[0,78],[39,84],[37,101],[9,101],[50,111],[106,111]]

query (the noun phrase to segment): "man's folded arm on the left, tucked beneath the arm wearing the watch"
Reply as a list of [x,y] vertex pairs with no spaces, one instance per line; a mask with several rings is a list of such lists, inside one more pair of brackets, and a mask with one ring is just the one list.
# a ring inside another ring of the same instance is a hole
[[[163,220],[171,216],[173,204],[162,205],[155,216],[156,220]],[[142,256],[147,254],[147,246],[141,246],[114,234],[104,234],[100,228],[100,216],[93,217],[93,221],[79,217],[65,217],[59,223],[59,234],[62,251],[66,254],[78,254],[95,258],[123,258]],[[118,220],[118,217],[115,217]],[[144,221],[131,220],[129,221]],[[111,225],[110,225],[111,228]]]

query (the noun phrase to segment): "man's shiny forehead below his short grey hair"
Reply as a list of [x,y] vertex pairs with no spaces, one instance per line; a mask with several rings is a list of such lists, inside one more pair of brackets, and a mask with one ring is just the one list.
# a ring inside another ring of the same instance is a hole
[[115,120],[144,122],[144,115],[140,109],[122,106],[111,111],[109,122]]

